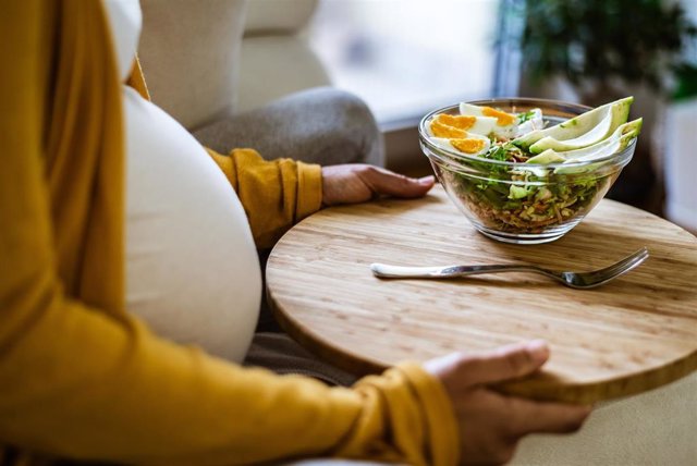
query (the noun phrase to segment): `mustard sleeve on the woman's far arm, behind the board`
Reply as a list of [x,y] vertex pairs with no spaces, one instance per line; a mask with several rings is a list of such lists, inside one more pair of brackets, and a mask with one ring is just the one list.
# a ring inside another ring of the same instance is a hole
[[234,149],[229,156],[206,150],[237,193],[257,247],[273,246],[293,224],[320,209],[319,165],[291,159],[267,161],[253,149]]

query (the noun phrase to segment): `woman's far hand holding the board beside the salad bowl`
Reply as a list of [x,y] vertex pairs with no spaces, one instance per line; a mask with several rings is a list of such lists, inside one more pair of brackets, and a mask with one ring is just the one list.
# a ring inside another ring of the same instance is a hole
[[421,197],[433,182],[433,176],[413,179],[363,163],[322,167],[322,204],[365,203],[380,195]]

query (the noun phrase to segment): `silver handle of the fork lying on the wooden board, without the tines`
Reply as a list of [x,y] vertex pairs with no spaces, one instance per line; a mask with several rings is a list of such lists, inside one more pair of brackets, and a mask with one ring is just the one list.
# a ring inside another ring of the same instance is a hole
[[541,272],[536,267],[516,265],[402,267],[388,263],[371,263],[370,270],[372,270],[374,275],[383,279],[454,279],[479,273]]

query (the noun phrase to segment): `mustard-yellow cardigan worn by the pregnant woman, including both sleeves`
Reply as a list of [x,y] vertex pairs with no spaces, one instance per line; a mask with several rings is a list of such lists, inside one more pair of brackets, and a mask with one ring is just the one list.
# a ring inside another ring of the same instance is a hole
[[[98,1],[3,2],[0,464],[456,463],[451,403],[418,365],[329,389],[173,344],[125,311],[122,109],[107,30]],[[317,168],[249,151],[219,162],[261,242],[319,207]]]

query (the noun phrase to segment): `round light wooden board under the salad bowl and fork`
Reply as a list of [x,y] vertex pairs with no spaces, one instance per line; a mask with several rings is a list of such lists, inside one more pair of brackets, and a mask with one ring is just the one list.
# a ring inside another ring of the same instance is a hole
[[[380,280],[368,268],[530,262],[591,270],[641,246],[651,257],[640,267],[585,291],[527,273]],[[284,329],[357,375],[545,339],[552,355],[543,370],[498,389],[590,403],[650,390],[697,368],[697,238],[612,200],[561,240],[533,246],[480,235],[439,187],[418,200],[330,208],[283,236],[267,280]]]

